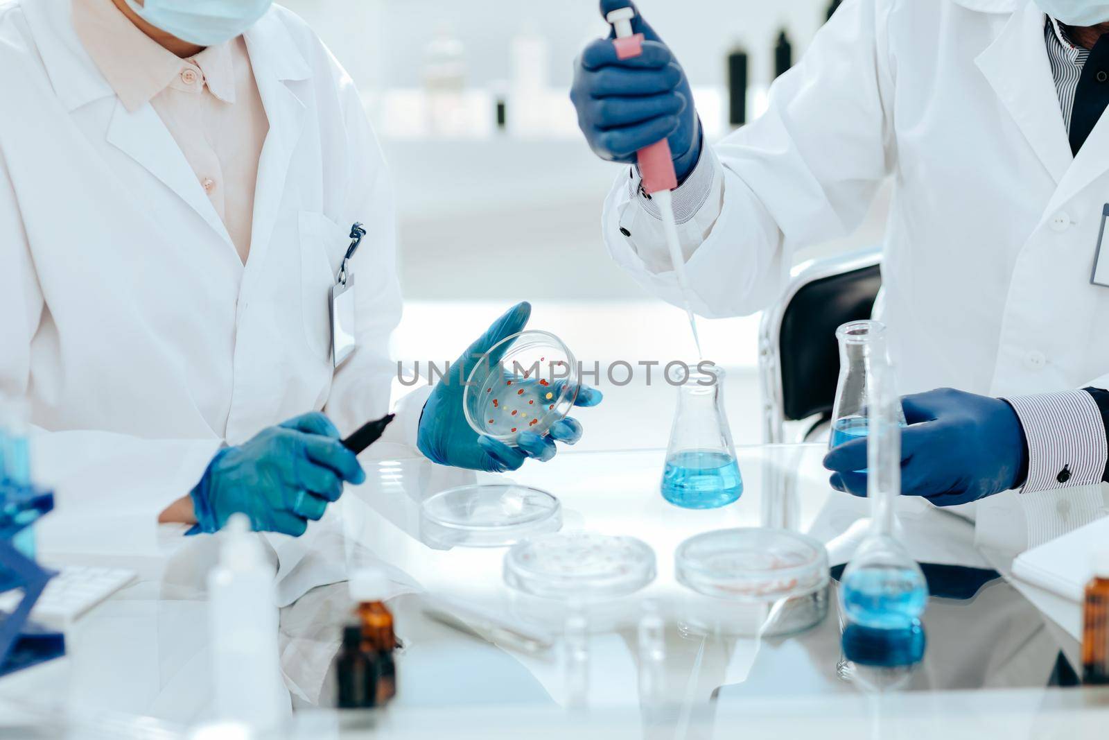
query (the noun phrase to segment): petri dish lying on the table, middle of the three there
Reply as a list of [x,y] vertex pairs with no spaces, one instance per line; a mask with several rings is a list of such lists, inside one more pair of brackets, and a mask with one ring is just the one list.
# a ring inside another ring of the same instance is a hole
[[505,554],[505,582],[549,599],[627,596],[654,580],[654,550],[634,537],[590,531],[529,537]]

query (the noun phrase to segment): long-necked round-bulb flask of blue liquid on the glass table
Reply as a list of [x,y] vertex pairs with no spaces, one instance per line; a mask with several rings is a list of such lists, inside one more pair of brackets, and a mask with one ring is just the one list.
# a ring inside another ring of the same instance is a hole
[[[840,606],[844,656],[856,666],[886,671],[914,666],[924,657],[920,616],[928,585],[894,531],[894,504],[901,495],[901,397],[884,354],[875,355],[868,369],[871,529],[843,571]],[[897,682],[888,681],[891,676],[875,676],[872,683],[889,687]]]

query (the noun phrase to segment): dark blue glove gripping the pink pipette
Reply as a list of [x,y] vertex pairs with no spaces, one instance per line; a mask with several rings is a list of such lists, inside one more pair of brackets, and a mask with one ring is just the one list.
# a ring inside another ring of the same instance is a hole
[[[628,0],[601,0],[601,17],[629,6],[635,8]],[[638,9],[632,30],[644,37],[639,57],[617,59],[613,30],[586,47],[574,62],[570,100],[578,125],[597,155],[610,162],[634,162],[640,149],[669,138],[681,182],[701,156],[693,92],[678,60]]]

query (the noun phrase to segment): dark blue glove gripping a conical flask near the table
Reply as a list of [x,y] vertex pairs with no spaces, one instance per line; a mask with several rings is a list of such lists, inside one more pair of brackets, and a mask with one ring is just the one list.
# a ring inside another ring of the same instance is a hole
[[[1028,452],[1017,413],[1000,398],[938,388],[902,398],[902,495],[936,506],[968,504],[1016,488]],[[866,496],[866,439],[832,449],[824,467],[832,487]]]

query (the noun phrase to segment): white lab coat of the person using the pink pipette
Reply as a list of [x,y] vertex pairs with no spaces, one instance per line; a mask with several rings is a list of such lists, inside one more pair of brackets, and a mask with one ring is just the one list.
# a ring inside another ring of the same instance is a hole
[[[688,261],[695,310],[766,306],[796,247],[849,234],[892,178],[882,317],[903,393],[1109,387],[1109,288],[1090,284],[1109,116],[1072,156],[1044,21],[1032,0],[844,2],[766,113],[714,146],[723,201]],[[632,240],[620,233],[644,215],[622,172],[609,249],[678,303],[673,274],[637,253],[634,224]],[[1036,517],[1074,524],[1074,509],[1046,506]]]

